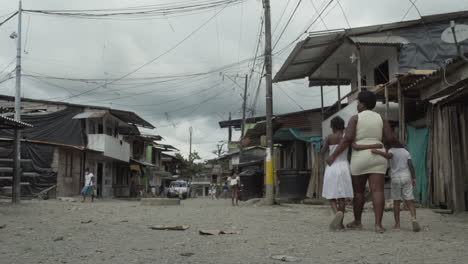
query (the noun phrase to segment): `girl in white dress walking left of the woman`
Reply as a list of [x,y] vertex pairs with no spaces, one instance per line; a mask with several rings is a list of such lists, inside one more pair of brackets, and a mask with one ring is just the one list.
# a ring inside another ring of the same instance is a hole
[[[344,135],[344,120],[336,116],[331,120],[333,134],[329,135],[323,144],[322,154],[333,153]],[[330,201],[330,206],[335,214],[330,229],[344,230],[343,218],[346,206],[346,198],[353,198],[351,172],[348,162],[348,151],[343,151],[335,159],[332,165],[327,165],[323,179],[322,197]]]

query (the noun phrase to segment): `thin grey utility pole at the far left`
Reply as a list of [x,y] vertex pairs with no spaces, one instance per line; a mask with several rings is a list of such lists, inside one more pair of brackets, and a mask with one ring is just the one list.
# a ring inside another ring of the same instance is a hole
[[[18,36],[16,39],[16,94],[15,94],[15,120],[21,121],[21,0],[18,8]],[[21,200],[21,131],[15,129],[15,140],[13,150],[13,181],[11,187],[12,203]]]

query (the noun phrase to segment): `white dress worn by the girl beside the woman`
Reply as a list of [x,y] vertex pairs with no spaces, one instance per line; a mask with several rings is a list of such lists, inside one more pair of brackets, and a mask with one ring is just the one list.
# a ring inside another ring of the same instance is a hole
[[[336,147],[338,145],[330,145],[330,153],[333,153]],[[322,196],[324,198],[330,200],[353,197],[348,149],[341,152],[331,166],[327,165],[323,178]]]

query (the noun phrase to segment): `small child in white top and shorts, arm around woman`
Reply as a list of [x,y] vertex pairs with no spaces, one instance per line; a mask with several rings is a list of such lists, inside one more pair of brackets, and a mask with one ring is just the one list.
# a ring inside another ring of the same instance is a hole
[[414,232],[421,227],[416,220],[413,187],[416,186],[416,172],[410,153],[396,139],[388,145],[388,152],[373,149],[372,153],[384,156],[390,160],[390,176],[392,178],[392,199],[395,225],[393,229],[400,230],[400,205],[405,201],[411,213],[411,223]]

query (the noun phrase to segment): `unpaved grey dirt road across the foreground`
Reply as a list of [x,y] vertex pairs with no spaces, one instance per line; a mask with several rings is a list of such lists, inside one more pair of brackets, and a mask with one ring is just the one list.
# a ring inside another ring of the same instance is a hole
[[[327,206],[261,206],[229,200],[189,199],[181,206],[137,201],[24,201],[0,203],[0,263],[467,263],[468,216],[419,209],[423,226],[376,234],[372,213],[363,231],[330,232]],[[347,214],[345,221],[350,220]],[[393,224],[390,212],[384,226]],[[189,225],[156,231],[154,225]],[[202,236],[200,229],[237,234]]]

